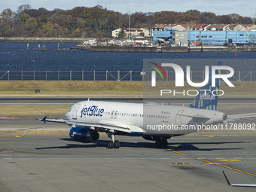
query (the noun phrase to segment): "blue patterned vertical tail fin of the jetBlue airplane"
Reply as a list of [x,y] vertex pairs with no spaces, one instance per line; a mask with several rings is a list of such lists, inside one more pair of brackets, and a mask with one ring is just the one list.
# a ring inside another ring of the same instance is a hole
[[[215,66],[223,66],[222,62],[215,62]],[[221,74],[221,70],[218,70]],[[200,88],[200,93],[194,99],[194,102],[190,104],[190,108],[203,108],[209,110],[216,110],[218,103],[218,96],[212,95],[214,91],[215,95],[218,95],[218,90],[220,88],[221,79],[215,80],[215,87],[212,87],[212,68],[209,70],[209,82],[205,86]]]

